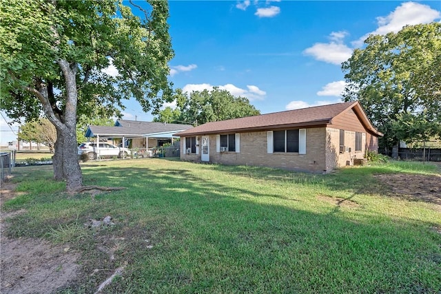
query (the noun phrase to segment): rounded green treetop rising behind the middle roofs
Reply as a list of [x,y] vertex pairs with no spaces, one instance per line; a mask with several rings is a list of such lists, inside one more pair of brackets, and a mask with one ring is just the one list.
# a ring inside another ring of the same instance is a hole
[[247,98],[235,97],[227,90],[220,90],[218,87],[214,87],[212,91],[194,91],[189,96],[178,89],[174,98],[176,99],[176,109],[165,108],[155,118],[156,120],[163,122],[174,120],[201,125],[211,121],[260,114]]

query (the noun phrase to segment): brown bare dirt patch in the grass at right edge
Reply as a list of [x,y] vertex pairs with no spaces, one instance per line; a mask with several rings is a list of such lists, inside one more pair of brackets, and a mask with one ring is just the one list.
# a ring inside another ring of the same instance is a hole
[[441,205],[439,175],[378,174],[375,178],[389,188],[391,196]]

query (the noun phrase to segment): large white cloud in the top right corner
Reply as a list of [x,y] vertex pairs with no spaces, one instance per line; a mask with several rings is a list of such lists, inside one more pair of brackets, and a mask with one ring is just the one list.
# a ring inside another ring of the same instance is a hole
[[405,2],[398,6],[386,17],[377,17],[378,28],[362,36],[353,45],[359,47],[369,34],[387,34],[398,32],[404,25],[417,25],[419,23],[431,23],[441,17],[441,12],[433,10],[427,5],[416,2]]

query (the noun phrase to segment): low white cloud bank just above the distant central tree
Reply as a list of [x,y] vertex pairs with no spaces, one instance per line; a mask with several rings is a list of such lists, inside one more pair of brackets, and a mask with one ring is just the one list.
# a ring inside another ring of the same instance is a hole
[[[203,83],[203,84],[187,84],[182,88],[182,91],[188,94],[193,91],[199,91],[202,92],[203,90],[212,91],[213,85]],[[242,96],[249,99],[249,101],[256,101],[256,100],[263,100],[265,99],[265,95],[267,92],[260,90],[255,85],[247,85],[247,90],[242,89],[240,87],[236,87],[233,84],[225,84],[225,85],[218,85],[218,88],[220,90],[227,90],[230,94],[233,96]]]

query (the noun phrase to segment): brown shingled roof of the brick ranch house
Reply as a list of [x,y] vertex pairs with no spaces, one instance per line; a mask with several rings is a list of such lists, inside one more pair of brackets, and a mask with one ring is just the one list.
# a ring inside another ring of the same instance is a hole
[[175,136],[195,136],[227,132],[249,132],[265,129],[277,129],[282,127],[310,127],[317,125],[328,125],[332,123],[332,119],[334,117],[350,108],[356,112],[362,124],[367,128],[368,132],[376,134],[377,136],[382,136],[382,134],[371,125],[358,101],[205,123],[198,127],[179,132],[178,134],[175,134]]

